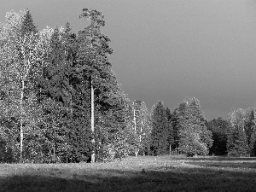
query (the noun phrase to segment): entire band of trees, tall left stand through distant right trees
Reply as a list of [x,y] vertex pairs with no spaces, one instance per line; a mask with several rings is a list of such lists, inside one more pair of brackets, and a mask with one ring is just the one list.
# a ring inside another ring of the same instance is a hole
[[69,22],[39,31],[28,9],[8,12],[0,24],[1,163],[256,156],[256,108],[207,121],[200,101],[187,97],[172,110],[159,101],[148,112],[113,73],[102,13],[82,9],[79,18],[90,25],[78,34]]

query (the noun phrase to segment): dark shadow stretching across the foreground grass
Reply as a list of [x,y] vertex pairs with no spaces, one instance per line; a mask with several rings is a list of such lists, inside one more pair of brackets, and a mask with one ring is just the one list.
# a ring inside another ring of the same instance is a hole
[[[85,170],[86,171],[86,170]],[[0,177],[0,191],[256,191],[255,172],[158,167],[145,172],[96,170],[67,175]]]

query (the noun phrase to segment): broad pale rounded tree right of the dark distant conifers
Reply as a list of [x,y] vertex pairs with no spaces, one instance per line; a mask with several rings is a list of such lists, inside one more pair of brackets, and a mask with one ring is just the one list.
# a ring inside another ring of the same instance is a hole
[[212,147],[212,132],[207,130],[199,100],[184,100],[174,110],[174,115],[178,148],[189,156],[207,155],[209,148]]

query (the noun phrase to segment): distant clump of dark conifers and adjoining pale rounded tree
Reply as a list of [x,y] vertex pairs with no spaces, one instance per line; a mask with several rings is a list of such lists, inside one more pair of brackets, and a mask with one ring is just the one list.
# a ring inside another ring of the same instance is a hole
[[172,113],[163,102],[157,102],[151,112],[151,153],[170,154],[175,149],[188,156],[207,155],[212,147],[212,131],[207,130],[206,123],[195,98],[179,103]]

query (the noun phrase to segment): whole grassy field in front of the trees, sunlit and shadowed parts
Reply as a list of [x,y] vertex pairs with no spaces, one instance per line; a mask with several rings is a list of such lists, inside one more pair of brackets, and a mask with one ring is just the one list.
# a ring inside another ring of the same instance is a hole
[[0,191],[251,192],[256,191],[256,158],[149,156],[97,164],[0,164]]

